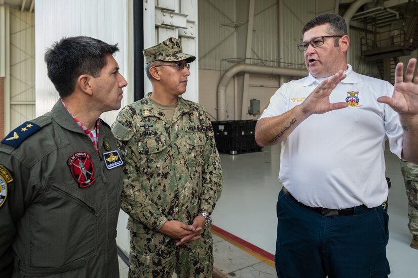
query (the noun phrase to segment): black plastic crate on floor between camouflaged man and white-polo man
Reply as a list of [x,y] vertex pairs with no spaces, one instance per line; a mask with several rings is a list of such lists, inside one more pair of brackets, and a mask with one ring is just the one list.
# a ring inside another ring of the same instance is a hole
[[261,152],[255,143],[255,120],[212,122],[216,147],[222,154]]

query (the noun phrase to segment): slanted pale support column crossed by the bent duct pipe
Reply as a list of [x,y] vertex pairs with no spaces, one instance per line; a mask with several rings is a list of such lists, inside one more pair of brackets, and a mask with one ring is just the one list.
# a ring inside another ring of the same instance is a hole
[[[250,0],[249,9],[248,9],[247,46],[246,46],[246,51],[245,51],[245,58],[251,58],[253,26],[254,26],[254,0]],[[245,60],[245,63],[250,64],[250,61]],[[244,88],[243,88],[243,93],[242,93],[241,120],[245,120],[247,118],[249,83],[250,83],[250,74],[245,73],[244,74]],[[226,113],[226,117],[229,117],[229,113]]]

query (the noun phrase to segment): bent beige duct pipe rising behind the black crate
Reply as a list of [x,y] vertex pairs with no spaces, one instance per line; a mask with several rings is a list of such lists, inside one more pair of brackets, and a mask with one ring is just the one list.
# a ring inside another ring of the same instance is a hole
[[308,76],[307,70],[289,69],[289,68],[277,68],[270,66],[260,66],[251,64],[237,64],[229,68],[223,74],[218,84],[217,90],[217,120],[226,120],[226,86],[239,72],[257,73],[257,74],[272,74],[272,75],[285,75],[285,76],[296,76],[306,77]]

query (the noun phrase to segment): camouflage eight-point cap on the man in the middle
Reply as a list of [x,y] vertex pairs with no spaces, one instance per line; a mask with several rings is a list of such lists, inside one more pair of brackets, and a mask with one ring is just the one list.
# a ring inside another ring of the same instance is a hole
[[145,56],[145,64],[160,60],[167,62],[177,62],[185,60],[186,63],[191,63],[196,60],[193,55],[183,53],[181,49],[181,40],[178,38],[168,38],[163,42],[150,47],[142,52]]

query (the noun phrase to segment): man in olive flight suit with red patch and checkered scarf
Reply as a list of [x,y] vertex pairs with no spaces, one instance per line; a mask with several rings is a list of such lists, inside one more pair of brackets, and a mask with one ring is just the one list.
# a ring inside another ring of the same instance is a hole
[[0,277],[119,277],[123,171],[99,116],[121,107],[117,45],[68,37],[46,53],[51,112],[0,144]]

